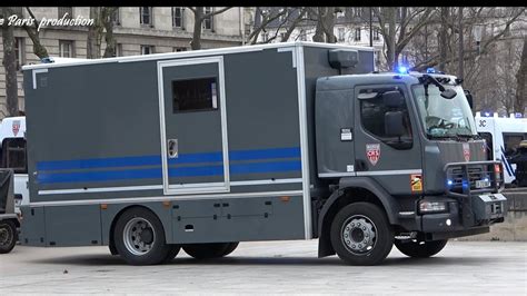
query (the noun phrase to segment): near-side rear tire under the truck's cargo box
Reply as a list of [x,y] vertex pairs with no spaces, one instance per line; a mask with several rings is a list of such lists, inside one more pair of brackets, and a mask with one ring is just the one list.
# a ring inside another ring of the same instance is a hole
[[113,241],[119,256],[130,265],[160,264],[171,251],[159,218],[141,207],[130,208],[119,217]]

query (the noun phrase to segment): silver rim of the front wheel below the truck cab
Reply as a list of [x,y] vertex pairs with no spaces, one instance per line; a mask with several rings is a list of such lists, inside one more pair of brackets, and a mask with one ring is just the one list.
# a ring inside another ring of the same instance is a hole
[[340,237],[346,248],[355,255],[370,253],[377,243],[377,227],[366,216],[349,217],[340,230]]

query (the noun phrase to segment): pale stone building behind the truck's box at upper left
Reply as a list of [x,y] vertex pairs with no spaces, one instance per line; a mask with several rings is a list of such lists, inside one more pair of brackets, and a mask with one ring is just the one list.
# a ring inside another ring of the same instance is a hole
[[[20,19],[30,18],[28,11],[16,8]],[[206,12],[221,8],[207,7]],[[89,7],[33,7],[38,20],[90,18]],[[245,8],[231,8],[203,21],[201,47],[220,48],[240,46],[243,36]],[[183,7],[120,7],[115,16],[113,33],[117,56],[149,55],[190,50],[193,31],[193,13]],[[1,31],[0,31],[1,33]],[[41,43],[50,57],[86,58],[88,29],[82,26],[48,26],[40,30]],[[26,30],[14,26],[16,50],[19,65],[40,62],[33,53],[32,41]],[[0,39],[1,40],[1,39]],[[1,41],[0,41],[1,42]],[[101,50],[106,45],[102,43]],[[0,60],[3,46],[0,47]],[[24,110],[22,73],[19,70],[19,108]],[[0,67],[0,118],[6,117],[6,76]]]

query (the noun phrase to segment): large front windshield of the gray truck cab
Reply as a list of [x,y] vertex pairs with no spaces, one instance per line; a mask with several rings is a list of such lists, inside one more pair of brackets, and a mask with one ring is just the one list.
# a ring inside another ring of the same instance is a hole
[[434,85],[428,86],[428,96],[425,96],[424,85],[412,87],[427,136],[440,138],[477,135],[473,112],[463,88],[460,86],[445,86],[445,88],[456,90],[456,97],[443,98],[439,88]]

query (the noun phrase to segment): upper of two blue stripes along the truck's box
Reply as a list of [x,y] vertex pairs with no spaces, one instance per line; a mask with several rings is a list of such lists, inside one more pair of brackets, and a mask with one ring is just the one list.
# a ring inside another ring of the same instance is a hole
[[[271,148],[256,150],[233,150],[229,152],[230,160],[258,160],[271,158],[300,157],[299,147]],[[169,165],[199,164],[223,161],[221,152],[205,154],[180,154],[178,158],[169,159]],[[133,156],[113,158],[91,158],[56,161],[39,161],[37,170],[66,170],[66,169],[90,169],[90,168],[118,168],[118,167],[141,167],[161,166],[160,156]]]

